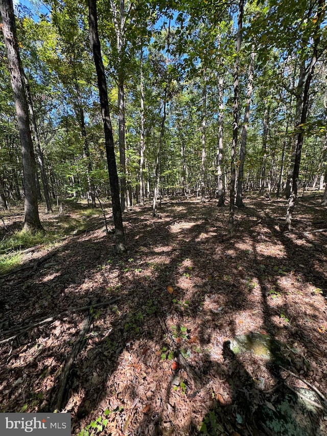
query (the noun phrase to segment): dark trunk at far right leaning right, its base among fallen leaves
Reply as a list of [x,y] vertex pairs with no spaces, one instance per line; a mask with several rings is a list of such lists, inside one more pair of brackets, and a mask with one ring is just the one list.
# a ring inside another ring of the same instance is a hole
[[293,179],[292,179],[292,193],[289,198],[288,202],[288,208],[286,211],[286,218],[285,218],[285,226],[284,226],[284,232],[285,231],[291,231],[292,226],[292,214],[294,211],[295,201],[297,197],[297,190],[298,190],[298,175],[300,170],[300,163],[301,163],[301,150],[303,145],[303,138],[304,138],[304,126],[307,121],[307,113],[308,113],[308,107],[309,107],[309,91],[310,91],[310,84],[311,80],[313,78],[313,74],[315,71],[316,62],[318,60],[318,44],[320,41],[320,32],[319,27],[321,23],[321,16],[322,16],[322,7],[323,7],[323,0],[319,0],[318,3],[318,11],[317,11],[317,20],[316,20],[316,32],[314,33],[313,37],[313,55],[311,58],[311,64],[310,64],[310,70],[306,79],[305,88],[303,91],[303,106],[301,111],[301,119],[300,119],[300,126],[299,126],[299,133],[297,135],[297,143],[296,143],[296,150],[295,150],[295,162],[294,162],[294,169],[293,169]]

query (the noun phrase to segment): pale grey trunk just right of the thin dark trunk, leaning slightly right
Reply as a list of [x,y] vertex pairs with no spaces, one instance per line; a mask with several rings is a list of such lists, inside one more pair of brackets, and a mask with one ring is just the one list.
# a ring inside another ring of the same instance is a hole
[[246,105],[245,105],[242,139],[241,139],[241,147],[240,147],[240,167],[239,167],[239,178],[237,182],[237,194],[236,194],[236,205],[238,206],[238,208],[242,208],[244,206],[243,196],[242,196],[242,186],[243,186],[243,177],[244,177],[243,173],[244,173],[244,160],[245,160],[245,151],[246,151],[246,135],[249,125],[250,104],[251,104],[251,97],[253,91],[254,56],[255,56],[254,45],[252,45],[252,53],[250,57],[249,73],[248,73],[248,85],[247,85],[247,92],[246,92]]

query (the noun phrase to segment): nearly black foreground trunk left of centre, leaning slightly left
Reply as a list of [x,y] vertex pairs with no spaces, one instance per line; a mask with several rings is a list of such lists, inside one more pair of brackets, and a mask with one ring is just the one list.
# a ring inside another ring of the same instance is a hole
[[119,180],[117,174],[116,160],[114,155],[114,144],[112,127],[110,120],[107,82],[104,72],[104,66],[101,56],[101,45],[98,34],[98,16],[96,0],[88,0],[88,24],[89,24],[89,39],[91,50],[94,56],[94,62],[97,71],[100,106],[102,112],[102,121],[104,128],[107,164],[111,189],[112,215],[115,228],[115,246],[119,253],[126,250],[125,236],[122,219],[122,210],[119,197]]

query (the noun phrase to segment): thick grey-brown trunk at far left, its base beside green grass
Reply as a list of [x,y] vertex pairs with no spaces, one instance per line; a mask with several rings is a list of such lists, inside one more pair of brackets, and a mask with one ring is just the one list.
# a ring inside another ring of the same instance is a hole
[[25,94],[24,75],[20,63],[12,0],[0,0],[2,30],[8,56],[11,85],[14,91],[18,130],[21,143],[22,166],[25,189],[24,230],[42,228],[36,196],[35,159],[30,129],[29,109]]

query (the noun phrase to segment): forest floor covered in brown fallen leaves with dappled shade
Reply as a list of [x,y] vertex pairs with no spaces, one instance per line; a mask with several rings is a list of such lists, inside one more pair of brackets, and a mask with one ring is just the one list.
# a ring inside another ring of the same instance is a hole
[[[84,230],[0,276],[0,411],[71,412],[74,435],[327,434],[327,208],[305,195],[283,235],[285,211],[249,195],[226,240],[215,201],[165,199],[155,218],[135,206],[124,255],[100,209],[41,214],[46,230]],[[1,239],[22,210],[2,216]],[[232,353],[240,335],[269,335],[284,360]],[[269,428],[283,396],[295,425]]]

